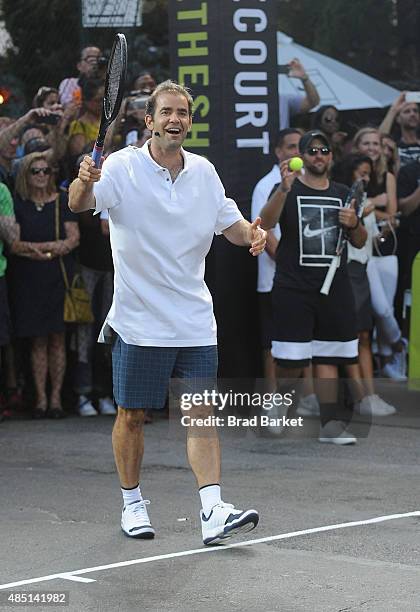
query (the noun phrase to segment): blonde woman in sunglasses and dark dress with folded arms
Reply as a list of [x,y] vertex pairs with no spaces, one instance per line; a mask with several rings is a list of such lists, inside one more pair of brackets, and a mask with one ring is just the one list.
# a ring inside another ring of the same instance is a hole
[[48,158],[43,153],[32,153],[22,160],[16,180],[15,215],[20,236],[12,246],[15,255],[11,262],[12,316],[15,335],[31,339],[36,392],[33,417],[61,418],[66,353],[64,282],[59,258],[62,257],[71,279],[70,253],[78,245],[79,230],[68,209],[67,194],[57,193]]

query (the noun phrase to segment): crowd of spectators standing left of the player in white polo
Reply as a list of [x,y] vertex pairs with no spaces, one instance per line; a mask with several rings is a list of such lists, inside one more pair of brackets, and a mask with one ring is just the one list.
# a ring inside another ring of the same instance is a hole
[[[96,343],[113,292],[107,221],[76,217],[67,205],[98,133],[106,66],[101,49],[85,47],[76,77],[41,86],[23,116],[0,117],[0,420],[62,418],[64,387],[81,416],[116,413],[110,355]],[[106,154],[148,139],[145,102],[155,87],[149,72],[136,75]],[[76,272],[94,323],[64,323],[64,274],[71,282]]]

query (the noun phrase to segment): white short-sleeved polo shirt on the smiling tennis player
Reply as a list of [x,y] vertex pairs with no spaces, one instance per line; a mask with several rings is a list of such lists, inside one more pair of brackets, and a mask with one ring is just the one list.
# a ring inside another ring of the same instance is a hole
[[95,213],[109,212],[115,280],[100,341],[109,326],[138,346],[217,344],[204,260],[213,234],[243,216],[226,198],[214,166],[181,152],[184,169],[174,183],[148,143],[104,162],[94,186]]

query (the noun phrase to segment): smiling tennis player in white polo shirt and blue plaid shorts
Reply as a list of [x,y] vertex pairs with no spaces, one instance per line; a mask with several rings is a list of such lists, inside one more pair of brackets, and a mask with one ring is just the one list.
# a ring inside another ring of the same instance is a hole
[[[226,197],[214,166],[182,148],[192,110],[188,90],[162,83],[146,107],[152,138],[141,149],[113,153],[102,170],[85,156],[70,186],[73,212],[109,213],[115,287],[101,336],[114,336],[118,415],[112,442],[124,504],[121,528],[134,538],[155,535],[139,484],[145,410],[163,408],[170,378],[217,377],[216,322],[204,282],[213,235],[224,234],[254,256],[266,240],[260,219],[248,223]],[[222,501],[217,432],[200,436],[188,428],[187,455],[199,487],[204,543],[256,527],[255,510]]]

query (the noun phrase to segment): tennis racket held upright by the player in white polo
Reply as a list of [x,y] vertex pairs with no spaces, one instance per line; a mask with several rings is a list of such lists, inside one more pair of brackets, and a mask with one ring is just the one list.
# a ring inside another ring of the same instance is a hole
[[95,166],[101,165],[102,151],[107,129],[119,113],[127,75],[127,41],[124,34],[116,34],[108,61],[105,79],[105,94],[98,137],[93,148]]

